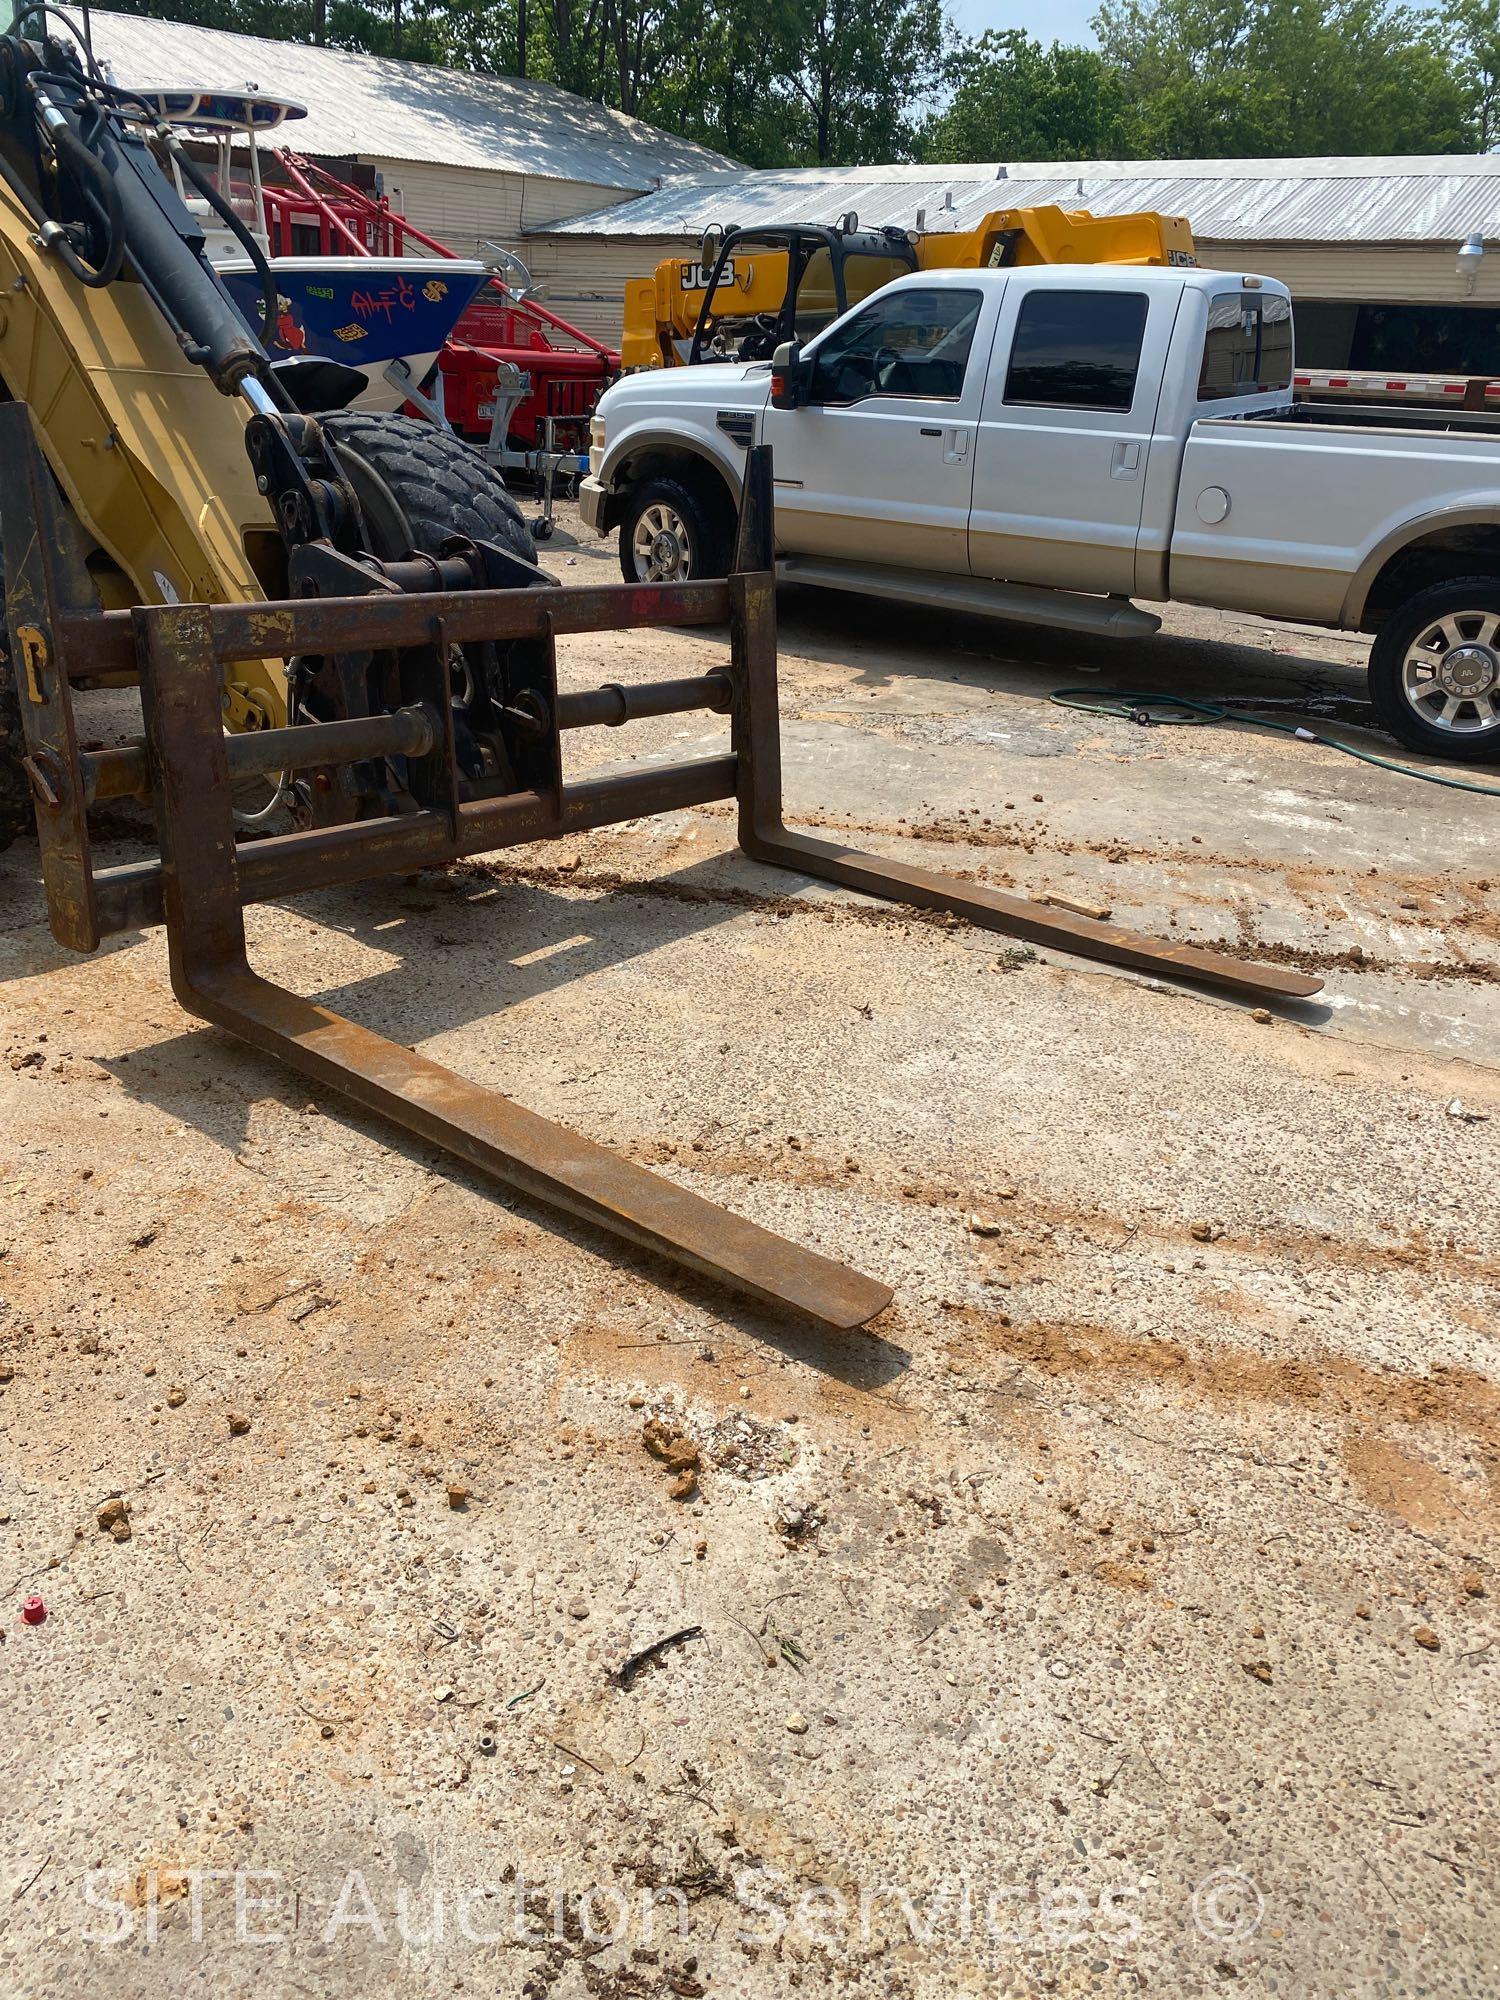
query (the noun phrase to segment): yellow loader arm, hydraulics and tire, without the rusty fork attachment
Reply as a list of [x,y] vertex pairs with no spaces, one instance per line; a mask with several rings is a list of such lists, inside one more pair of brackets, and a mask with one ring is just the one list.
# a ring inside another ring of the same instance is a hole
[[[450,542],[454,588],[540,582],[516,502],[476,452],[430,424],[346,410],[358,370],[270,358],[164,168],[238,238],[268,336],[276,286],[260,246],[182,134],[50,38],[52,18],[36,6],[16,26],[36,22],[40,40],[0,38],[0,398],[32,412],[98,602],[382,590],[382,564],[432,560]],[[474,546],[460,556],[464,538]],[[224,722],[366,714],[378,672],[244,660]],[[484,734],[486,692],[472,694],[458,726],[482,762],[470,738]],[[290,780],[280,802],[304,820],[358,816],[388,800],[378,774],[362,780],[336,798]],[[0,844],[28,824],[32,792],[16,676],[0,662]]]

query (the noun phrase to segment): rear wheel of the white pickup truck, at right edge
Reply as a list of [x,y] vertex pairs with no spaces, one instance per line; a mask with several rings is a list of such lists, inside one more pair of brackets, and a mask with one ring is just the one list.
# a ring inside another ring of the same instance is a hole
[[1500,578],[1458,576],[1398,604],[1370,648],[1370,700],[1408,750],[1500,762]]

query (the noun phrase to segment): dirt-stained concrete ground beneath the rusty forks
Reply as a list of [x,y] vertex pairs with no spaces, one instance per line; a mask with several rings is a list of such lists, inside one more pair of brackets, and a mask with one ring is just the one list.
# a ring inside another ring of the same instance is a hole
[[160,934],[70,958],[12,850],[6,1994],[1500,1988],[1494,804],[1048,702],[1314,686],[1398,754],[1354,646],[1208,614],[788,594],[782,682],[794,822],[1324,994],[778,878],[724,808],[250,914],[274,978],[892,1284],[840,1340],[188,1022]]

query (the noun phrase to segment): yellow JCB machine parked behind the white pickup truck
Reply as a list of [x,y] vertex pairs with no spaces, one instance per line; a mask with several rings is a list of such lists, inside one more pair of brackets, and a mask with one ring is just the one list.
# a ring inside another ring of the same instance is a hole
[[810,340],[912,270],[1006,264],[1196,264],[1186,216],[1092,216],[1084,208],[996,208],[972,230],[862,230],[768,224],[710,230],[698,258],[664,258],[626,284],[620,358],[632,368],[770,360],[784,340]]

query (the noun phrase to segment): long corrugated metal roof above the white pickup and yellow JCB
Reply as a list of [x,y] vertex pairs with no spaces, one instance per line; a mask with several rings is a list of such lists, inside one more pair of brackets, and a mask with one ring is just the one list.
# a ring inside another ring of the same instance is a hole
[[[1002,178],[1004,176],[1004,178]],[[1500,236],[1500,158],[1096,160],[674,176],[654,194],[546,226],[564,236],[700,236],[712,222],[970,228],[992,208],[1186,216],[1204,242],[1462,242]],[[542,234],[542,230],[538,230]]]

